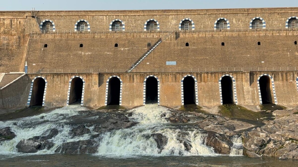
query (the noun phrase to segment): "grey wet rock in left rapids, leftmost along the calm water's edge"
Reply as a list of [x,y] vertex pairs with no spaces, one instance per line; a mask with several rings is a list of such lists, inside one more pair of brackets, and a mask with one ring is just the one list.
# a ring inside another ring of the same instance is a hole
[[50,149],[53,146],[54,144],[49,141],[36,141],[22,138],[21,141],[16,145],[16,148],[18,149],[18,152],[35,153],[39,150]]

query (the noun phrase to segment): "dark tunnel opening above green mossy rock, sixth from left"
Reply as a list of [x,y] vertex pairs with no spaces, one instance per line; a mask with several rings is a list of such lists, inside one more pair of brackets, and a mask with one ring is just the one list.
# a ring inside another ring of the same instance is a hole
[[221,95],[223,104],[233,104],[233,81],[230,76],[221,78]]

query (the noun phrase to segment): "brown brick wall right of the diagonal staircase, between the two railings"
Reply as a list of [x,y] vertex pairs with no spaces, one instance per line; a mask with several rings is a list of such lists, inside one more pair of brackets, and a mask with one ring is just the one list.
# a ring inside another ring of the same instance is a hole
[[[241,35],[241,32],[188,35],[184,33],[177,40],[163,41],[136,69],[297,66],[296,35]],[[261,45],[257,45],[259,41]],[[189,47],[185,46],[186,42]],[[221,42],[225,42],[225,46],[221,46]],[[166,65],[166,61],[176,61],[177,64]]]

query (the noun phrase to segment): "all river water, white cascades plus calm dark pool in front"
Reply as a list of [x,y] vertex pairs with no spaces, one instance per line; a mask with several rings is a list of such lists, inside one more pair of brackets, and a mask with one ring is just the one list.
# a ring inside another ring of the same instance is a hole
[[[70,105],[48,113],[10,121],[0,121],[0,128],[11,127],[16,137],[0,144],[0,166],[297,166],[296,161],[274,158],[248,158],[243,156],[240,136],[233,136],[230,155],[218,155],[204,144],[201,129],[191,124],[176,125],[165,118],[170,111],[162,106],[149,104],[132,109],[129,119],[139,124],[105,132],[98,139],[95,154],[61,154],[55,150],[62,143],[88,140],[95,132],[71,136],[74,126],[67,124],[74,116],[82,116],[87,108]],[[165,118],[161,117],[164,114]],[[96,119],[96,118],[92,118]],[[49,129],[57,128],[57,136],[49,139],[55,145],[37,153],[18,153],[16,145],[22,139],[41,136]],[[150,134],[161,133],[168,141],[162,151]],[[187,140],[192,148],[185,150],[181,140]],[[95,138],[95,140],[97,140]]]

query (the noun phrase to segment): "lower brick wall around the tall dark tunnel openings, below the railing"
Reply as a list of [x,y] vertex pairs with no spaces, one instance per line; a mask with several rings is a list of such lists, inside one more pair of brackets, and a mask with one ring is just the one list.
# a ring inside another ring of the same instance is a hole
[[[117,75],[122,79],[122,105],[134,107],[143,104],[143,81],[148,75],[155,75],[160,81],[160,105],[181,105],[181,79],[193,75],[198,84],[198,102],[201,106],[220,105],[218,80],[222,75],[232,75],[236,81],[239,105],[259,105],[257,79],[262,74],[269,74],[274,79],[278,104],[297,105],[297,72],[235,72],[235,73],[102,73],[102,74],[45,74],[47,92],[45,105],[49,107],[65,106],[69,79],[74,75],[85,80],[85,106],[103,106],[105,104],[105,86],[107,79]],[[30,78],[35,75],[29,74]],[[29,94],[29,90],[28,90]],[[272,87],[271,95],[273,96]]]

